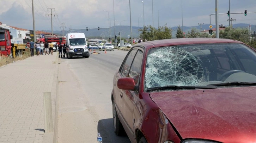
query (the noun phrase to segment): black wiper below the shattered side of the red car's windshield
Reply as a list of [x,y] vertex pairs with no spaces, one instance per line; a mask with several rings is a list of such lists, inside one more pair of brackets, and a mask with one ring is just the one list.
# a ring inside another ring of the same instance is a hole
[[207,86],[163,86],[163,87],[152,87],[148,88],[146,91],[151,91],[151,90],[164,90],[164,89],[212,89],[212,88],[219,88],[219,87],[207,87]]

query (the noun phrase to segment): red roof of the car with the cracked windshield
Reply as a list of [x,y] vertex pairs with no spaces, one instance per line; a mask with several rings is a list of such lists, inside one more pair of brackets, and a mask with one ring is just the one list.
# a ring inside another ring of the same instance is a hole
[[179,38],[179,39],[164,39],[164,40],[140,42],[135,44],[134,46],[152,48],[152,47],[200,44],[200,43],[243,43],[243,42],[231,40],[231,39],[218,39],[218,38]]

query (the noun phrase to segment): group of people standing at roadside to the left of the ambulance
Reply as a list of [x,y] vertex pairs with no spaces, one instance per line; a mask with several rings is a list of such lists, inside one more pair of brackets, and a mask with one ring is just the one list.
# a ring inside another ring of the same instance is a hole
[[63,51],[63,57],[65,57],[66,54],[66,45],[59,43],[59,45],[56,43],[55,45],[51,42],[41,42],[37,41],[36,43],[33,42],[33,40],[31,40],[30,44],[30,54],[31,56],[34,56],[34,49],[36,49],[36,56],[40,56],[40,55],[46,55],[46,54],[51,54],[53,55],[53,47],[57,47],[59,49],[59,57],[62,57],[62,51]]

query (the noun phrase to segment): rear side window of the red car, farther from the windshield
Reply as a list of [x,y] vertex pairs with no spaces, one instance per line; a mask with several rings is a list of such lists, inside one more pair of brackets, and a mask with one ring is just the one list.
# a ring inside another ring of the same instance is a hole
[[133,58],[134,58],[136,52],[137,52],[137,49],[133,49],[127,56],[127,59],[126,59],[125,63],[123,64],[123,67],[121,70],[121,74],[123,75],[123,77],[127,77],[128,71],[130,69],[130,66],[132,64],[132,61],[133,61]]

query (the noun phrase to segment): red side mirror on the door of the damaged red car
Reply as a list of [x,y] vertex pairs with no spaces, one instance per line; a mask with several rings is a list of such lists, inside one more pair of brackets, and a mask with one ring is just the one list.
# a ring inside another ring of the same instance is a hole
[[118,79],[117,87],[123,90],[134,90],[135,89],[135,82],[132,77],[123,77]]

